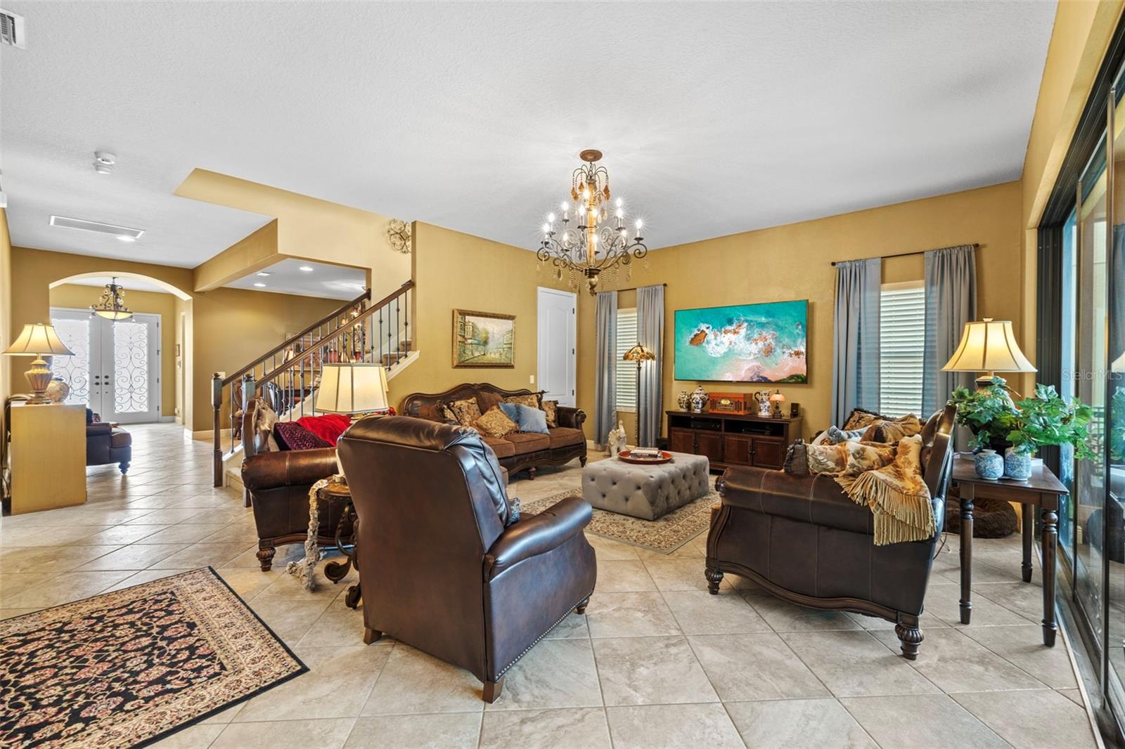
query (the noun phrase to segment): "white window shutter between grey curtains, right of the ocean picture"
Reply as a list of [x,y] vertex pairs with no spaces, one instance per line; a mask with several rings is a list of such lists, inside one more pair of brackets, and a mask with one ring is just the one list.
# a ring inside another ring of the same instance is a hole
[[921,414],[926,349],[926,291],[921,281],[883,286],[879,309],[879,410]]

